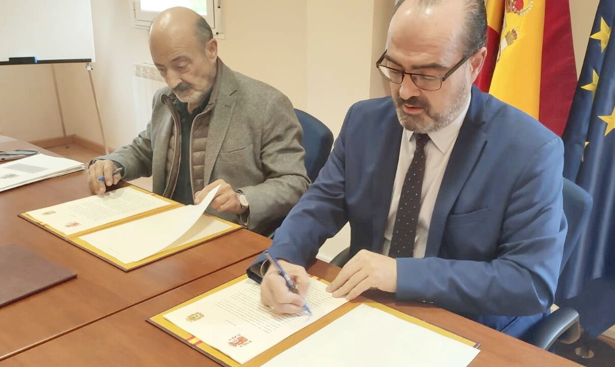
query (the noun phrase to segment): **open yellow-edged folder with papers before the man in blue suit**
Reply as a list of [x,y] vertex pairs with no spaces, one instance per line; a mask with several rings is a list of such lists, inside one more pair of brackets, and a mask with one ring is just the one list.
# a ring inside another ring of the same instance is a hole
[[148,321],[224,366],[467,366],[478,344],[312,277],[313,315],[275,314],[241,276]]

